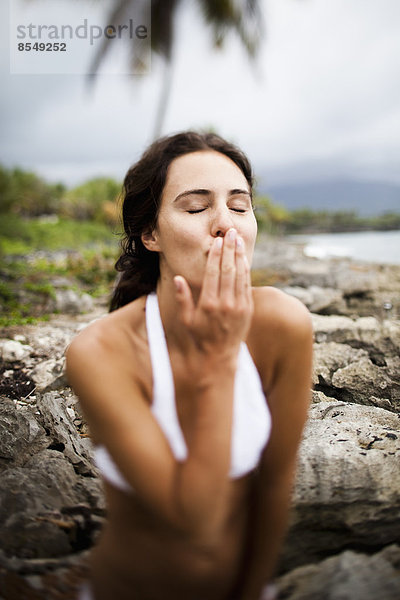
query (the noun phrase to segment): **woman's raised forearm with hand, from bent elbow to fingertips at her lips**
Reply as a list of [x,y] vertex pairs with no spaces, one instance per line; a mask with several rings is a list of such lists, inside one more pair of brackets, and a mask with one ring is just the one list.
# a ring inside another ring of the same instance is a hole
[[183,277],[174,282],[178,319],[171,363],[188,449],[174,497],[183,522],[201,535],[217,532],[226,512],[235,373],[253,311],[243,240],[236,243],[233,229],[223,241],[215,238],[197,303]]

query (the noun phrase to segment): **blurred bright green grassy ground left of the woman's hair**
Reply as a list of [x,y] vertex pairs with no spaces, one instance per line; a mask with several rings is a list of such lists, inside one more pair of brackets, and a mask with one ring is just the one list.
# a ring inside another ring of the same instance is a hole
[[108,295],[117,249],[118,236],[102,223],[2,215],[0,326],[48,318],[57,289]]

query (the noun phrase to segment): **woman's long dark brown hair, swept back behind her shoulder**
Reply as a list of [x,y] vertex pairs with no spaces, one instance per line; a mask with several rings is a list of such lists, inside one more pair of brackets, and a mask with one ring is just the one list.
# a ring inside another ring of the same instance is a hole
[[160,275],[158,253],[147,250],[141,236],[156,226],[171,162],[199,150],[215,150],[230,158],[252,189],[253,176],[248,159],[237,146],[215,133],[187,131],[153,142],[129,169],[123,183],[124,236],[121,255],[115,265],[121,274],[113,292],[110,311],[155,290]]

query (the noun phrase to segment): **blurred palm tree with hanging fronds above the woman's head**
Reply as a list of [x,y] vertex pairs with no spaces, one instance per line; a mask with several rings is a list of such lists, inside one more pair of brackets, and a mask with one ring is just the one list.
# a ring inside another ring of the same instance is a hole
[[[149,0],[114,0],[108,15],[109,23],[122,22],[129,16],[134,22],[141,22],[144,2]],[[197,0],[206,26],[212,29],[213,46],[221,48],[229,33],[237,35],[250,58],[254,58],[262,36],[262,15],[259,0]],[[164,75],[155,119],[153,138],[162,132],[169,102],[172,82],[172,50],[175,41],[174,23],[181,0],[152,0],[151,2],[151,49],[165,61]],[[97,51],[90,72],[96,74],[107,55],[110,45],[103,39]],[[137,72],[143,64],[138,47],[131,47],[131,64]]]

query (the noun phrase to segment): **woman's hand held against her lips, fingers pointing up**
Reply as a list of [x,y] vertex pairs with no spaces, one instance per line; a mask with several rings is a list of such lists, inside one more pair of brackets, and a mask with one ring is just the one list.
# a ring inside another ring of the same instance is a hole
[[215,238],[197,304],[183,277],[176,276],[174,282],[179,318],[187,333],[185,350],[236,359],[253,314],[250,268],[236,230]]

